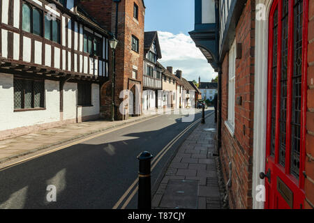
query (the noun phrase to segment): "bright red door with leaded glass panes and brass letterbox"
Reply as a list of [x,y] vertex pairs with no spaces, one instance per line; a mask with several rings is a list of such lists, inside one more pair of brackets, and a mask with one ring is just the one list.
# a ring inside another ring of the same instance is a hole
[[308,0],[274,0],[269,14],[265,208],[303,208]]

